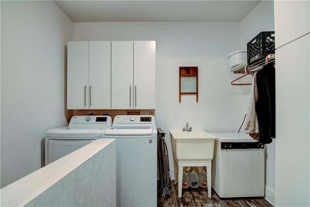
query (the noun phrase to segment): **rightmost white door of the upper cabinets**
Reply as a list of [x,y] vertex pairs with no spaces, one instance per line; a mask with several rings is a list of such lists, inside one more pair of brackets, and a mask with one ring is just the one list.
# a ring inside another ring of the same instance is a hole
[[134,109],[155,109],[155,41],[134,41]]

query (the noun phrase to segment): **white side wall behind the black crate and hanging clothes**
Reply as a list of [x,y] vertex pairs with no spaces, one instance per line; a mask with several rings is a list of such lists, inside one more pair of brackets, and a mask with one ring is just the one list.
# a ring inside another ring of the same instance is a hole
[[[241,48],[247,50],[247,43],[258,33],[263,31],[275,31],[273,0],[260,1],[252,11],[245,16],[241,23]],[[276,37],[277,41],[277,37]],[[266,177],[265,198],[270,203],[275,203],[275,157],[276,140],[266,144]]]

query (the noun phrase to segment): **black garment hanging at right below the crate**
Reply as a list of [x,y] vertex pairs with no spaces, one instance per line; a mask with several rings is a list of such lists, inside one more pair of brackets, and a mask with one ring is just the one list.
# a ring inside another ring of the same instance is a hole
[[258,98],[255,102],[259,126],[259,142],[271,143],[276,137],[276,84],[273,63],[266,64],[256,73]]

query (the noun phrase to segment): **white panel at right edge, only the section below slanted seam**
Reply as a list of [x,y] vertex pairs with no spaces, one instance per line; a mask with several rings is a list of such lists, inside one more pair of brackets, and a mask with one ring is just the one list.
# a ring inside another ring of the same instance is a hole
[[276,50],[276,206],[310,206],[309,46],[310,34]]

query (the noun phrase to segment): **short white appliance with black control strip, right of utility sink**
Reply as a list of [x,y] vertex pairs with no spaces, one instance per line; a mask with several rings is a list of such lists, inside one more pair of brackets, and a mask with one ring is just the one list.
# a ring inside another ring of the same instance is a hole
[[220,198],[263,197],[265,149],[245,133],[216,136],[212,160],[212,188]]

